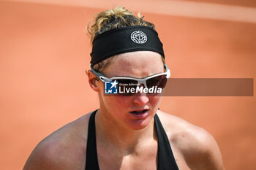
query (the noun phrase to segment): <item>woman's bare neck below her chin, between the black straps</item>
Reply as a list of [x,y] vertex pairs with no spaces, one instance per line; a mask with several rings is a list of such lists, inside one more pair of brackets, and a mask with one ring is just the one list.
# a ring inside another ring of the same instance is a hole
[[99,109],[96,115],[97,140],[108,147],[113,146],[121,150],[135,150],[138,144],[156,140],[154,118],[145,128],[135,130],[119,125],[104,109]]

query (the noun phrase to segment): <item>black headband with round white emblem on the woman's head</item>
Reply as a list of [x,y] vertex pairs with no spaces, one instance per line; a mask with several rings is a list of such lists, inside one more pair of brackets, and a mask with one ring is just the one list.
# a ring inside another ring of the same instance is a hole
[[165,58],[157,31],[148,26],[129,26],[105,31],[94,38],[91,66],[113,55],[132,51],[154,51]]

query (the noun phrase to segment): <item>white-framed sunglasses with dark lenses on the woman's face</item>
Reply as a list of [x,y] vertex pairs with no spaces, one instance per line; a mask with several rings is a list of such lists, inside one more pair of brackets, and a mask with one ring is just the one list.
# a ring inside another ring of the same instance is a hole
[[[167,65],[165,64],[166,72],[154,74],[144,78],[135,78],[135,77],[105,77],[103,74],[96,72],[91,67],[91,72],[101,80],[102,82],[118,82],[118,87],[121,88],[137,88],[140,85],[143,85],[144,88],[165,88],[168,78],[170,77],[170,69],[168,69]],[[150,93],[150,92],[148,92]],[[134,93],[122,93],[122,95],[130,96]]]

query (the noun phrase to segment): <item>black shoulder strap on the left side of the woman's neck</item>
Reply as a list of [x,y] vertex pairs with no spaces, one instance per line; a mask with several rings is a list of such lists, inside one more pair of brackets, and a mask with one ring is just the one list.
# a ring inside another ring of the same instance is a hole
[[86,170],[99,170],[96,133],[95,133],[95,114],[97,110],[91,113],[88,125],[88,136],[86,146]]

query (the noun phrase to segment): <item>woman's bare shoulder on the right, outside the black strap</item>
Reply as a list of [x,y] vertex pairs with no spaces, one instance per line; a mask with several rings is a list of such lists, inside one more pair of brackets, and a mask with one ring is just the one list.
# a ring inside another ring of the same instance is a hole
[[203,128],[165,112],[157,112],[172,147],[191,169],[224,170],[222,155],[214,137]]

